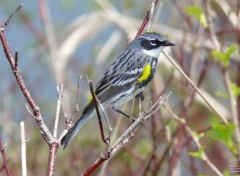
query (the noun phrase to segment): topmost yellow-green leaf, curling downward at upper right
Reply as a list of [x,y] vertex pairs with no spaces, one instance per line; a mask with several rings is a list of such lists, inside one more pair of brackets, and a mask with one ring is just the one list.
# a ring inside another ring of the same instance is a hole
[[199,7],[199,6],[188,6],[185,9],[185,12],[188,15],[191,15],[191,16],[197,18],[200,21],[200,23],[202,24],[203,27],[208,26],[206,15],[204,14],[203,9],[201,7]]

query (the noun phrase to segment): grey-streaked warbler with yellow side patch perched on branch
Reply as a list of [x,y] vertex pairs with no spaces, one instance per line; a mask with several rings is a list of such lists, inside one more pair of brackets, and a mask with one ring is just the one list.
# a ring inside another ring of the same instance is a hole
[[[117,112],[118,106],[141,95],[143,88],[152,80],[159,54],[166,46],[174,46],[162,35],[147,32],[136,37],[126,50],[108,67],[96,86],[95,94],[103,106],[111,106]],[[90,98],[81,117],[61,140],[64,148],[94,112]],[[123,113],[124,114],[124,113]]]

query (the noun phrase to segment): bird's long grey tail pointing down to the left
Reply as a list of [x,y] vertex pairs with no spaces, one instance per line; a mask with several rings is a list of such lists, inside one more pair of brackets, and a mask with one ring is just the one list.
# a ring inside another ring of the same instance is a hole
[[92,117],[93,110],[93,106],[88,106],[83,110],[82,116],[77,120],[75,125],[68,131],[68,133],[62,138],[61,145],[63,145],[63,149],[67,147],[69,142],[73,140],[73,138],[82,128],[82,126]]

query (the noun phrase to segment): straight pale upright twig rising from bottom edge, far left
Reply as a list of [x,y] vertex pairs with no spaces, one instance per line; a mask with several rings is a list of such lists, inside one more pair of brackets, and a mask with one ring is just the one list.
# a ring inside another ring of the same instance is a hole
[[27,157],[26,157],[26,139],[25,139],[25,127],[24,122],[20,122],[21,128],[21,164],[22,164],[22,176],[27,176]]

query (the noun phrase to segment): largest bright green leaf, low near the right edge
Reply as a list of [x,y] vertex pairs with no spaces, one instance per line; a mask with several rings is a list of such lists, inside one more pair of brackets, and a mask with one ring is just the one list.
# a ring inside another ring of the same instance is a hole
[[225,144],[232,153],[236,154],[237,149],[234,145],[233,135],[236,126],[229,122],[222,124],[217,119],[213,119],[211,123],[212,129],[207,133],[209,137]]

